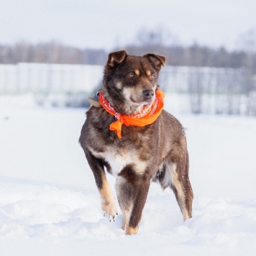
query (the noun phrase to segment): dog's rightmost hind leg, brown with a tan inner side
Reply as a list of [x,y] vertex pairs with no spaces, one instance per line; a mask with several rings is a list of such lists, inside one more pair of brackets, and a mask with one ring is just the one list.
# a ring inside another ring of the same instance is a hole
[[170,185],[180,206],[184,221],[192,218],[193,201],[193,191],[188,178],[188,159],[186,162],[185,166],[173,164]]

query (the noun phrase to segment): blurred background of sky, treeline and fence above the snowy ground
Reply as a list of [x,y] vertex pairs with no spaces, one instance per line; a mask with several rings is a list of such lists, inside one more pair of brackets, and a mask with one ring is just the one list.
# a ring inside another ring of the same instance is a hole
[[9,0],[0,9],[0,106],[88,106],[109,52],[167,58],[176,109],[256,115],[254,0]]

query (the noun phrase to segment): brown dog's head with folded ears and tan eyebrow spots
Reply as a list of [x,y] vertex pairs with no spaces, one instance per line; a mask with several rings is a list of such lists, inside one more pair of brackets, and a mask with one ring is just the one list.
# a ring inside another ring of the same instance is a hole
[[134,56],[126,51],[111,52],[104,70],[103,93],[114,109],[134,114],[155,100],[159,71],[165,57],[153,53]]

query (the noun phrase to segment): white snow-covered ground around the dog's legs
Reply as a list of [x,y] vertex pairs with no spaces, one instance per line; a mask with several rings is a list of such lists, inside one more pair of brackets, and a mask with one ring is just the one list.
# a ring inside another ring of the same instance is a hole
[[121,211],[115,222],[101,212],[78,145],[84,112],[1,106],[1,256],[255,255],[255,118],[176,113],[188,138],[193,219],[183,223],[173,193],[152,183],[139,233],[127,237]]

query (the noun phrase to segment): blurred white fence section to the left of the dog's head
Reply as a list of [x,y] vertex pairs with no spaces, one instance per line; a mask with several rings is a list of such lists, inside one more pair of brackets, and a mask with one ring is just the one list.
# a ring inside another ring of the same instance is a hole
[[100,65],[0,65],[0,93],[89,93],[102,73]]

